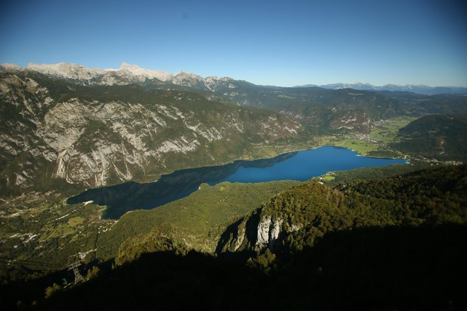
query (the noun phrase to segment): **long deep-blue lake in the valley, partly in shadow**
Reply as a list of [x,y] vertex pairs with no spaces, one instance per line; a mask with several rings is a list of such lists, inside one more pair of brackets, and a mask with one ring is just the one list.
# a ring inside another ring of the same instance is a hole
[[68,199],[68,204],[93,201],[107,206],[103,218],[118,219],[127,211],[152,209],[181,199],[195,192],[202,183],[271,182],[273,180],[309,180],[325,172],[369,168],[396,163],[403,159],[370,158],[346,148],[320,148],[284,153],[262,160],[238,160],[233,163],[204,168],[177,170],[162,175],[156,182],[139,184],[125,182],[110,187],[89,189]]

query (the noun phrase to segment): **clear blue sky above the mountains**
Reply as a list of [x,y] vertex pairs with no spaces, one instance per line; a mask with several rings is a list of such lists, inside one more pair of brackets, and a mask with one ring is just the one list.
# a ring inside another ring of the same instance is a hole
[[4,0],[0,63],[127,61],[277,86],[467,86],[461,3]]

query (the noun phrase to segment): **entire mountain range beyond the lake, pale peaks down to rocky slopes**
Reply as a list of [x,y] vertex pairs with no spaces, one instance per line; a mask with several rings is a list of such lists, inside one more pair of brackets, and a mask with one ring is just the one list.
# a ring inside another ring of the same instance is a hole
[[187,166],[316,146],[326,135],[368,134],[394,117],[467,115],[463,95],[272,88],[126,63],[3,64],[0,88],[3,191],[152,181]]

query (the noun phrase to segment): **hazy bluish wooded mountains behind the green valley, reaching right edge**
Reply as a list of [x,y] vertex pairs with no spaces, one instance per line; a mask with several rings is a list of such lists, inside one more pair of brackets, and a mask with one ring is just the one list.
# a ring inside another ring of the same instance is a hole
[[368,133],[375,122],[401,115],[467,115],[464,95],[419,95],[409,92],[343,88],[279,88],[246,81],[222,81],[214,93],[238,105],[282,112],[315,131]]

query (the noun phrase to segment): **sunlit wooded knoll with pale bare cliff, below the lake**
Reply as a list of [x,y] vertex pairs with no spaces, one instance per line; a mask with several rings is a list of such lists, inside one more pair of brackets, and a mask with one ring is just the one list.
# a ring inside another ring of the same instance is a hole
[[[368,207],[371,209],[371,207]],[[338,211],[330,215],[330,209]],[[349,209],[345,196],[335,189],[304,183],[265,201],[260,209],[233,223],[219,241],[217,252],[294,250],[304,240],[313,242],[333,225],[348,228],[339,219]],[[336,216],[338,215],[338,216]],[[298,246],[299,247],[299,246]]]

